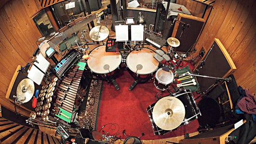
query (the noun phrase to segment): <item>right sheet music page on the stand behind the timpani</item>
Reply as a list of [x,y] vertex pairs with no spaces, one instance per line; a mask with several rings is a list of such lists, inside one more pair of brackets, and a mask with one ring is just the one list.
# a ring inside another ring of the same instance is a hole
[[144,25],[131,25],[131,40],[132,41],[143,41],[144,36]]

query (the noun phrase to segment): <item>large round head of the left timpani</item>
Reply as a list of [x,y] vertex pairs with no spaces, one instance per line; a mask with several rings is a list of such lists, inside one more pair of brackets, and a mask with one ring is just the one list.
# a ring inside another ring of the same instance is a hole
[[116,52],[106,52],[106,46],[94,48],[89,53],[88,67],[92,72],[106,74],[113,72],[122,62],[122,56]]

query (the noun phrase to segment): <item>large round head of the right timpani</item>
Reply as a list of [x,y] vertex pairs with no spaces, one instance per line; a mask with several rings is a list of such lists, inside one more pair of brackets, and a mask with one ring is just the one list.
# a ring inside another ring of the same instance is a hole
[[150,74],[158,69],[159,62],[154,58],[155,52],[149,48],[133,50],[126,58],[128,68],[137,74]]

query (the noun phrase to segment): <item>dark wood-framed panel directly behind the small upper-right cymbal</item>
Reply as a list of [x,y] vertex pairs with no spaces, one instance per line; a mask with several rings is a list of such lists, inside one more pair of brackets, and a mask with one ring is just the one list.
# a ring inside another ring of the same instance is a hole
[[195,45],[205,20],[196,16],[178,13],[177,20],[174,23],[171,37],[175,37],[180,41],[180,46],[176,48],[176,51],[185,53]]

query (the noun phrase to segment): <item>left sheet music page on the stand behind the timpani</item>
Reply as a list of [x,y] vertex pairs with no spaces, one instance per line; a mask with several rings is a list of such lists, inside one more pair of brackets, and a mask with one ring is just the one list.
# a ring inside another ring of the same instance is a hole
[[127,41],[128,37],[128,25],[115,25],[116,41]]

